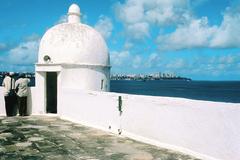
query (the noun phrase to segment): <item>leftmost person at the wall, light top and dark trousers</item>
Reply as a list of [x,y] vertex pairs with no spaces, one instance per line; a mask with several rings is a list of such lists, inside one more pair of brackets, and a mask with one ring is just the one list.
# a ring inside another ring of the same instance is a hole
[[16,116],[16,94],[15,94],[15,80],[13,78],[14,73],[6,73],[2,86],[4,87],[4,100],[7,116]]

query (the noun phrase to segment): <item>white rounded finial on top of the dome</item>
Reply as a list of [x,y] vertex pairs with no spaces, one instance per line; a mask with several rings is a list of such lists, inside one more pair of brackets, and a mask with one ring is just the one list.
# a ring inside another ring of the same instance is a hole
[[68,23],[80,23],[80,8],[72,4],[68,9]]

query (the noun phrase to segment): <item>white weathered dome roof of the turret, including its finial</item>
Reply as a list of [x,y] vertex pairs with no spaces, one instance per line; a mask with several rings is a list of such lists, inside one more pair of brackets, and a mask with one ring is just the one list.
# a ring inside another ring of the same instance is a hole
[[109,66],[107,45],[95,29],[80,22],[80,9],[69,8],[68,23],[50,28],[42,37],[38,63],[87,64]]

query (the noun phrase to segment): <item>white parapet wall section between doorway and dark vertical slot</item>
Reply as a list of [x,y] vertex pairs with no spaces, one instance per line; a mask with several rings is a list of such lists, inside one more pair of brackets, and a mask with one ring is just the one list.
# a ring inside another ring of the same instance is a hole
[[61,117],[117,132],[120,118],[116,97],[109,98],[95,93],[85,94],[81,90],[72,89],[63,89],[61,96],[58,98],[58,114]]

